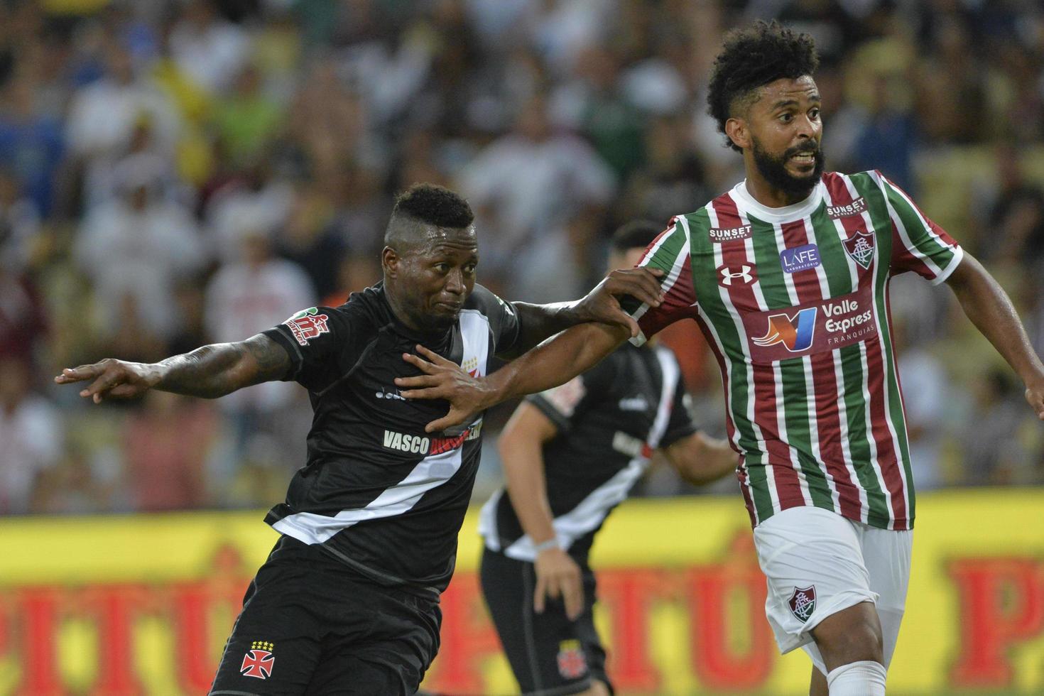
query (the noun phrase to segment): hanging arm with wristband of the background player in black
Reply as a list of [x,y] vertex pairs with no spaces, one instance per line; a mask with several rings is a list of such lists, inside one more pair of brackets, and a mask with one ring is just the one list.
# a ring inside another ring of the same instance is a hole
[[540,409],[523,402],[500,433],[497,446],[512,507],[522,531],[541,549],[533,561],[537,574],[533,609],[543,614],[545,598],[562,597],[566,616],[576,619],[584,609],[584,580],[579,566],[555,541],[544,477],[544,443],[557,432],[559,429]]

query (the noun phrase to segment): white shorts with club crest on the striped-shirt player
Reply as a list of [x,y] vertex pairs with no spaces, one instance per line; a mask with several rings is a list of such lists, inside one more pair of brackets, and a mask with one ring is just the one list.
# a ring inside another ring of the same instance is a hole
[[768,581],[765,616],[780,652],[803,647],[827,673],[811,630],[832,614],[874,602],[892,662],[906,606],[912,531],[878,529],[818,507],[777,512],[754,528]]

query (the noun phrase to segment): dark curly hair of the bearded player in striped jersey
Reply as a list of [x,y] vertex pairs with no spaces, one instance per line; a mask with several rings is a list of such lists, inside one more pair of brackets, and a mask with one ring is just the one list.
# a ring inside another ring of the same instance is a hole
[[[726,34],[721,52],[714,59],[707,111],[725,134],[725,123],[738,106],[737,100],[755,96],[755,90],[777,79],[811,75],[818,65],[815,42],[807,33],[796,34],[775,20],[734,29]],[[725,140],[726,145],[741,151],[728,135]]]

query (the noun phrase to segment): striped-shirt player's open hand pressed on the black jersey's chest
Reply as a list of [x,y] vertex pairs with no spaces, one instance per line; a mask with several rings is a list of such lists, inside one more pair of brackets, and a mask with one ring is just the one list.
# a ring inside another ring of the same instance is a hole
[[487,407],[481,378],[472,377],[460,365],[423,345],[418,345],[417,352],[427,360],[409,353],[404,353],[402,359],[424,374],[397,377],[395,384],[400,393],[406,399],[445,399],[450,403],[449,413],[425,426],[425,432],[438,432],[470,423],[475,414]]

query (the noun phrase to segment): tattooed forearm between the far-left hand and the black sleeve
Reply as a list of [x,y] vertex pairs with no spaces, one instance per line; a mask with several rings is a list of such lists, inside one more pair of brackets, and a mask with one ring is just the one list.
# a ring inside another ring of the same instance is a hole
[[204,345],[160,362],[163,391],[217,399],[236,389],[279,379],[290,366],[286,351],[266,336],[241,343]]

